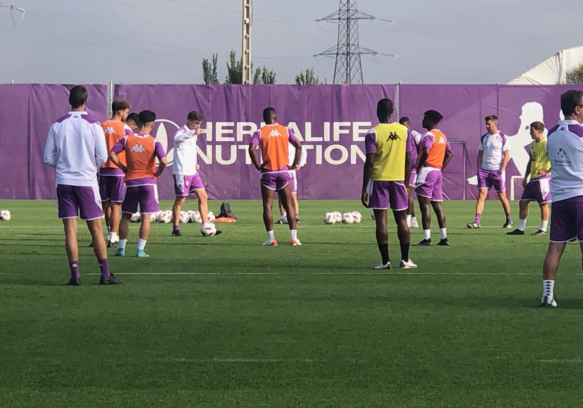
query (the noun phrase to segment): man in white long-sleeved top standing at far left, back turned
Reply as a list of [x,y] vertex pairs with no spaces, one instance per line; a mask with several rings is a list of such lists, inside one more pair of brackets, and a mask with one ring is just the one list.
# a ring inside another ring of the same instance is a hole
[[65,228],[65,249],[69,258],[70,286],[79,286],[79,246],[77,216],[87,222],[93,238],[102,285],[119,284],[109,270],[106,241],[103,238],[103,209],[97,184],[97,170],[107,161],[106,138],[103,128],[90,117],[87,89],[75,86],[69,93],[71,111],[54,122],[48,131],[44,162],[57,171],[57,203],[59,218]]

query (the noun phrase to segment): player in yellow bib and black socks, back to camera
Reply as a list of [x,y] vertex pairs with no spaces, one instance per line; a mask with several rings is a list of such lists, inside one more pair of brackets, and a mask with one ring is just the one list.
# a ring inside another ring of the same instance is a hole
[[[374,269],[391,269],[389,259],[389,233],[387,210],[389,206],[397,224],[397,236],[401,244],[400,268],[417,268],[409,259],[410,231],[407,224],[408,198],[405,180],[411,175],[412,143],[407,128],[391,123],[393,102],[381,99],[377,103],[379,124],[364,137],[366,161],[364,162],[363,189],[360,201],[373,209],[377,225],[377,245],[381,252],[381,263]],[[370,181],[372,190],[369,194]]]

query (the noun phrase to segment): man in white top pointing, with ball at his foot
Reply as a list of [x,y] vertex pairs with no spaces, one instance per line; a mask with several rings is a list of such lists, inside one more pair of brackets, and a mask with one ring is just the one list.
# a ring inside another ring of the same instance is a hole
[[[198,210],[201,213],[202,224],[208,223],[208,195],[198,174],[199,165],[196,163],[196,136],[202,133],[202,114],[192,111],[188,114],[186,125],[182,126],[174,135],[174,163],[172,175],[174,177],[174,192],[176,199],[172,207],[173,237],[181,237],[180,210],[189,194],[194,193],[198,198]],[[217,230],[215,235],[222,231]]]

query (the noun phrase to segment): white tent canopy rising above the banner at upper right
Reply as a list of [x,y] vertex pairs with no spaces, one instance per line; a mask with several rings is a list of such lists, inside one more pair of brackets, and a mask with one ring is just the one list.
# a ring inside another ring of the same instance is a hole
[[533,66],[508,82],[509,85],[557,85],[565,83],[567,72],[583,62],[583,45],[567,48]]

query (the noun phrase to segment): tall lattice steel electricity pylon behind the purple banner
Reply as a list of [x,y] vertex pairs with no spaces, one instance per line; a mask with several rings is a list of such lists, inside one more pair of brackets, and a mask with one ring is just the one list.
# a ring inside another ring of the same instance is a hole
[[[375,20],[377,17],[361,12],[356,0],[340,0],[338,11],[316,21],[338,22],[338,43],[314,57],[335,56],[334,83],[361,84],[363,69],[361,55],[377,55],[370,48],[361,47],[359,41],[359,20]],[[389,20],[385,20],[389,21]]]

